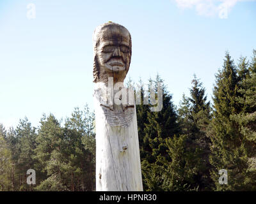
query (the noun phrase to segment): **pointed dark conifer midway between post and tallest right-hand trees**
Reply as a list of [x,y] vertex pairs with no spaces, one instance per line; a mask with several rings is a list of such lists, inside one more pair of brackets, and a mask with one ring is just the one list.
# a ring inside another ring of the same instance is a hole
[[[178,171],[177,168],[175,172],[177,175],[180,174],[180,178],[183,178],[181,184],[186,184],[187,191],[209,191],[212,189],[209,173],[211,169],[211,164],[209,164],[211,141],[206,133],[211,121],[211,106],[207,102],[205,88],[202,87],[202,83],[196,76],[192,80],[190,98],[183,95],[178,112],[182,134],[180,140],[182,139],[183,142],[179,145],[184,148],[182,159],[186,165],[184,172]],[[172,146],[169,144],[168,147],[170,149]],[[170,157],[176,157],[175,151]]]

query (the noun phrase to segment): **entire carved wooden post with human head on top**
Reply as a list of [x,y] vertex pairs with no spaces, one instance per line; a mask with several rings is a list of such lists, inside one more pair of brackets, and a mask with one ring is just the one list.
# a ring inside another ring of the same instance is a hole
[[95,29],[93,46],[96,191],[143,191],[134,95],[124,87],[131,34],[108,22]]

